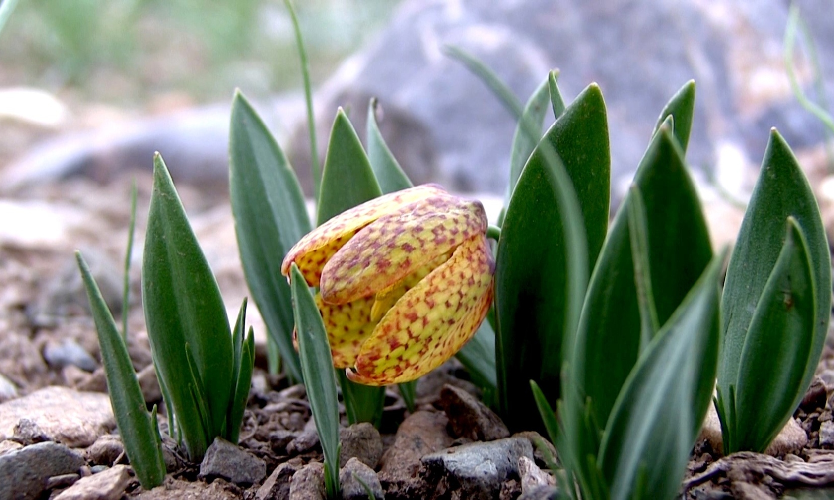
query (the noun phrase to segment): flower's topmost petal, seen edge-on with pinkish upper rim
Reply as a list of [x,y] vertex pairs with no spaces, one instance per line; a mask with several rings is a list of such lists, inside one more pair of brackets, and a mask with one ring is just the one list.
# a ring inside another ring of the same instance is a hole
[[404,205],[445,193],[437,184],[423,184],[374,198],[346,210],[295,243],[281,264],[281,274],[288,276],[290,264],[296,263],[309,286],[318,287],[324,264],[360,229]]

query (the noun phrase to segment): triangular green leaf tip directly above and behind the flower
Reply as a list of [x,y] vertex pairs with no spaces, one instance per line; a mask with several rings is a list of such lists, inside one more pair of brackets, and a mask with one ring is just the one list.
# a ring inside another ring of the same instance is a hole
[[348,115],[339,107],[324,158],[317,224],[379,196],[382,191],[359,136]]

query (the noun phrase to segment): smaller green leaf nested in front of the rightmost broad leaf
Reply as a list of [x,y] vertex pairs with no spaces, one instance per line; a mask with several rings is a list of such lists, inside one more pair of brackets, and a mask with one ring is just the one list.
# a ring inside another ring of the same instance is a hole
[[[739,361],[736,428],[725,453],[764,453],[805,394],[816,318],[814,276],[806,239],[788,218],[785,243],[756,305]],[[816,363],[815,363],[816,364]]]

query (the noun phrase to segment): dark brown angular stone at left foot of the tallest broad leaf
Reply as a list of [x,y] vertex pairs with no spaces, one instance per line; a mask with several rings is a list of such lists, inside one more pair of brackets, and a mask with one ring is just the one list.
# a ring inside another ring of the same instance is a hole
[[443,386],[440,408],[449,418],[449,427],[457,438],[495,441],[510,437],[510,430],[498,415],[463,389]]

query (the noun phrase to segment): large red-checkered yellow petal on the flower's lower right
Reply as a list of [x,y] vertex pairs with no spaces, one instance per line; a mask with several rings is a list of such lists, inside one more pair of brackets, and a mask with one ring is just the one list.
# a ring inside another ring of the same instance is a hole
[[485,236],[470,238],[411,288],[362,344],[348,378],[389,385],[419,378],[475,334],[492,303],[495,261]]

